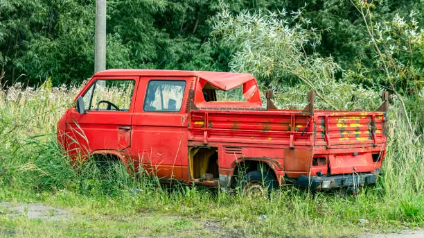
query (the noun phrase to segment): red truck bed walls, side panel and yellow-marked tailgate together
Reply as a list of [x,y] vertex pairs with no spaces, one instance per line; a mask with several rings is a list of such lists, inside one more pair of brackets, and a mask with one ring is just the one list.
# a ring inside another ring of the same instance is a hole
[[362,147],[385,142],[384,112],[315,110],[195,110],[191,140],[278,144],[283,147]]

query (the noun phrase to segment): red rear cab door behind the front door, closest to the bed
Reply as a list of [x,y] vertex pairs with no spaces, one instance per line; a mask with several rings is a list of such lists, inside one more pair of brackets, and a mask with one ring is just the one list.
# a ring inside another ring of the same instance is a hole
[[140,79],[132,117],[132,157],[158,178],[189,179],[187,95],[193,80],[194,77]]

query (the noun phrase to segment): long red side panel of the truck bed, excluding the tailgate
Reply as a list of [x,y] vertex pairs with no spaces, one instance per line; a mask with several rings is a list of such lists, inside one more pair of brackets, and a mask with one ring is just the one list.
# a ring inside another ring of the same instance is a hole
[[290,148],[297,145],[312,146],[314,143],[312,116],[303,112],[197,110],[190,113],[191,139],[201,140],[204,144],[208,144],[211,139],[285,144]]

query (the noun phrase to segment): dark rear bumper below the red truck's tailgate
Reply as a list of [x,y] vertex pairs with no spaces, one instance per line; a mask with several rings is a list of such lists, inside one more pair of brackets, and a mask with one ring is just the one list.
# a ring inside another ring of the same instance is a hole
[[310,189],[333,189],[336,187],[362,187],[377,182],[381,169],[369,173],[342,174],[335,176],[304,176],[301,175],[294,185]]

